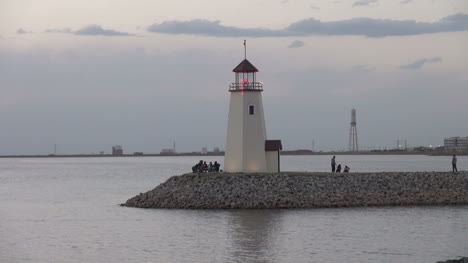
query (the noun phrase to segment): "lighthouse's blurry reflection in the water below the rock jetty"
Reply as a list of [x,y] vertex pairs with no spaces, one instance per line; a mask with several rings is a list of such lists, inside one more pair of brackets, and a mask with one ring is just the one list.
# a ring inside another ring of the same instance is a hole
[[282,210],[233,210],[228,215],[229,262],[272,262]]

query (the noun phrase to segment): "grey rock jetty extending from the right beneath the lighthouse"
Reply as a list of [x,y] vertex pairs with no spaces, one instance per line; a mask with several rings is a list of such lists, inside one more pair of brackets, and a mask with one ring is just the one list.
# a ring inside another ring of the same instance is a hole
[[237,209],[467,205],[468,172],[184,174],[122,206]]

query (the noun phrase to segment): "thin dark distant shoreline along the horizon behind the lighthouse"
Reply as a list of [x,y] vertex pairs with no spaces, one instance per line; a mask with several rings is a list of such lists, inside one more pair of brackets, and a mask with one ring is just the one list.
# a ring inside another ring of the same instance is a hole
[[[312,152],[305,150],[282,151],[281,155],[426,155],[426,156],[468,156],[468,152],[408,152],[408,151],[362,151],[362,152]],[[177,153],[177,154],[21,154],[21,155],[0,155],[0,158],[99,158],[99,157],[181,157],[181,156],[224,156],[224,152],[201,153]]]

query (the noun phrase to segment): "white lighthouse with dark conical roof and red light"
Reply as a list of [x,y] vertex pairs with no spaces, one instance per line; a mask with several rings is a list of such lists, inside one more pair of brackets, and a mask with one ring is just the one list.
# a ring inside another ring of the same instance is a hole
[[281,141],[267,140],[262,103],[263,83],[257,80],[258,69],[245,55],[233,72],[234,82],[229,84],[224,171],[279,172]]

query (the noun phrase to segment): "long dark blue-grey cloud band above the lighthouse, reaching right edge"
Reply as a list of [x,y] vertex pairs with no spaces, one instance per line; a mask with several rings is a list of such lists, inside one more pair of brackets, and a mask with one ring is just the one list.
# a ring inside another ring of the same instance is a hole
[[313,35],[387,37],[467,30],[468,14],[462,13],[447,16],[433,23],[374,18],[353,18],[322,22],[309,18],[292,23],[283,29],[268,29],[224,26],[220,24],[219,20],[195,19],[190,21],[165,21],[160,24],[152,24],[147,28],[147,31],[154,33],[212,37],[303,37]]

